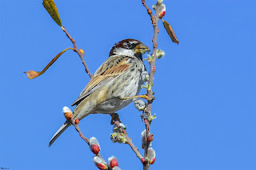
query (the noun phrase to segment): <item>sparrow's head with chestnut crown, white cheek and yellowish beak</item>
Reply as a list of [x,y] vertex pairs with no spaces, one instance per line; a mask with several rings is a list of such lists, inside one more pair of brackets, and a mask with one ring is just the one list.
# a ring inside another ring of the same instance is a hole
[[138,57],[142,60],[142,53],[149,51],[150,48],[142,44],[142,42],[134,39],[125,39],[112,47],[110,50],[110,56],[126,55],[130,57]]

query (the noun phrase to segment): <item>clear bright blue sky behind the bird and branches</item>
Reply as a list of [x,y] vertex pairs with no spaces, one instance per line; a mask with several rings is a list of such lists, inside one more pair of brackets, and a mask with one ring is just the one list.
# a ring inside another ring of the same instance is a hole
[[[155,0],[146,2],[151,6]],[[139,0],[55,3],[63,26],[85,50],[92,73],[122,39],[135,38],[152,49],[150,18]],[[164,3],[164,19],[180,44],[170,42],[159,22],[158,46],[166,56],[156,66],[152,112],[158,118],[151,132],[157,160],[150,169],[256,169],[256,2]],[[57,53],[72,46],[42,1],[1,0],[0,38],[0,166],[97,169],[93,153],[73,127],[48,148],[65,121],[62,107],[70,107],[89,81],[78,55],[64,53],[34,80],[22,73],[42,70]],[[133,105],[118,113],[142,152],[140,113]],[[123,170],[142,169],[128,145],[111,142],[108,115],[86,117],[80,128],[87,137],[98,138],[105,159],[114,155]]]

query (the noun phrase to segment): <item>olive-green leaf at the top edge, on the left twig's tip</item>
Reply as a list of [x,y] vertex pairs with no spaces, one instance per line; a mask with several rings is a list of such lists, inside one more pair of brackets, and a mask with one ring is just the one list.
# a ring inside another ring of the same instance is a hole
[[50,14],[50,17],[53,18],[54,22],[56,22],[58,26],[62,26],[62,20],[58,15],[58,10],[54,3],[54,0],[43,0],[42,5]]

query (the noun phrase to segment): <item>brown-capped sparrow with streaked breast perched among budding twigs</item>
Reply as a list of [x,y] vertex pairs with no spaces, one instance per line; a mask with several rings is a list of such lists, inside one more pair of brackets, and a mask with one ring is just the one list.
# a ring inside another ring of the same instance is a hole
[[[108,59],[96,70],[72,104],[76,105],[74,120],[80,121],[94,113],[115,113],[129,105],[133,100],[127,97],[138,95],[145,81],[146,67],[142,53],[149,51],[149,47],[135,39],[125,39],[115,44]],[[49,146],[70,125],[70,121],[66,121],[51,138]]]

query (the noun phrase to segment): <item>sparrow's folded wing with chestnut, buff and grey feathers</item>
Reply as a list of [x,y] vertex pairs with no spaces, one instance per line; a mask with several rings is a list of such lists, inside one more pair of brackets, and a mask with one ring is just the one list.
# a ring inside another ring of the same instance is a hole
[[118,77],[122,73],[126,72],[126,69],[131,65],[130,57],[118,56],[109,57],[94,73],[94,76],[90,79],[88,85],[82,90],[77,100],[73,105],[78,105],[84,98],[88,97],[95,90],[106,85],[109,81]]

